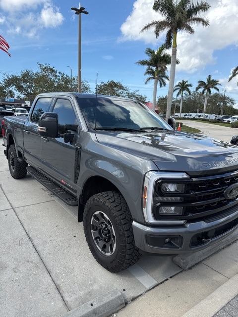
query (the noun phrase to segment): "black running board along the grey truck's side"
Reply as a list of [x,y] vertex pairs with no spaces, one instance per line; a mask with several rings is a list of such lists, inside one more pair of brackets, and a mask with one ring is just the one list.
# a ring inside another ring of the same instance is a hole
[[40,173],[32,166],[27,166],[28,173],[33,176],[39,183],[45,186],[49,191],[58,196],[64,203],[69,206],[78,206],[78,200],[73,195],[66,192],[62,187],[54,183],[48,177]]

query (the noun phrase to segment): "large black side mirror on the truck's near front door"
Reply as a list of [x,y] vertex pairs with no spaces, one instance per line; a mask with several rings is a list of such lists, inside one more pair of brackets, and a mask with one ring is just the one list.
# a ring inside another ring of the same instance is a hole
[[43,113],[39,119],[38,131],[42,137],[58,138],[58,113]]

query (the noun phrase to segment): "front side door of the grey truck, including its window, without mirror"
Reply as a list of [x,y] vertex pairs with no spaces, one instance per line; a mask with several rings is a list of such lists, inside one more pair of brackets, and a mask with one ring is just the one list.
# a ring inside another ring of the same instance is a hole
[[75,190],[75,159],[79,161],[80,148],[76,147],[77,131],[64,129],[65,124],[78,124],[71,99],[59,97],[52,112],[59,116],[59,134],[74,133],[72,142],[65,143],[62,137],[41,138],[42,168],[69,190]]

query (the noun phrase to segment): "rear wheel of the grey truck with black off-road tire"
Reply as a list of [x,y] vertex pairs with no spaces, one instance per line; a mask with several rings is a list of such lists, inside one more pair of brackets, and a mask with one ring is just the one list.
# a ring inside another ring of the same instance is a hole
[[18,179],[26,177],[27,163],[18,161],[14,144],[10,145],[8,150],[8,166],[10,174],[13,178]]

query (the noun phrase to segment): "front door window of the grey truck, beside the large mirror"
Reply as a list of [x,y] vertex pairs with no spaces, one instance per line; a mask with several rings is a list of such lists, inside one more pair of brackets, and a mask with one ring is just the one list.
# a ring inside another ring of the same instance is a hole
[[64,129],[64,124],[77,124],[77,119],[73,107],[67,99],[57,99],[53,112],[58,113],[59,117],[59,133],[70,133]]

